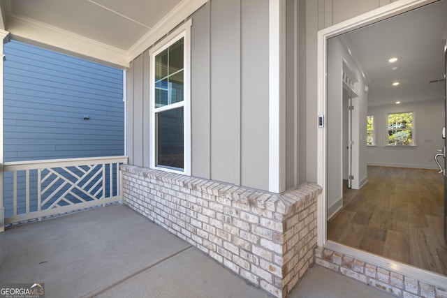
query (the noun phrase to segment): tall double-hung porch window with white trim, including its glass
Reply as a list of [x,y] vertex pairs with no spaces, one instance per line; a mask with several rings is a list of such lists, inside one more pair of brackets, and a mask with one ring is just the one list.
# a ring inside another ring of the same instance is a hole
[[152,167],[191,174],[189,26],[150,51]]

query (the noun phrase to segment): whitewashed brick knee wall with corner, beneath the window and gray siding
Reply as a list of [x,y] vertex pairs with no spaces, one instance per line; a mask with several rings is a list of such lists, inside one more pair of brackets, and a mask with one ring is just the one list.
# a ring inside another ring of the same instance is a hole
[[314,263],[316,198],[303,184],[281,195],[122,165],[123,202],[276,297]]

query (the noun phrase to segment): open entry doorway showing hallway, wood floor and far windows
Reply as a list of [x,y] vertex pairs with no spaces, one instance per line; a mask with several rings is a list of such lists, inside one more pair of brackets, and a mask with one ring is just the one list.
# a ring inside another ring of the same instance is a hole
[[445,15],[441,0],[330,38],[326,133],[328,240],[442,275]]

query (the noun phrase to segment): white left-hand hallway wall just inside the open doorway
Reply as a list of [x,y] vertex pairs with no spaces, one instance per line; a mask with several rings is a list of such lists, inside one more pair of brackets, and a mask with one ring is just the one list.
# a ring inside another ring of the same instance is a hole
[[347,99],[344,100],[342,89],[344,63],[348,64],[351,75],[358,80],[355,87],[358,96],[352,100],[354,107],[352,112],[353,164],[351,174],[354,176],[352,187],[358,189],[362,186],[362,181],[367,180],[365,158],[367,93],[363,91],[365,81],[358,66],[354,64],[340,40],[333,38],[328,42],[328,218],[343,205],[342,180],[344,177],[347,178],[348,170],[349,156],[346,150],[348,112],[346,111]]

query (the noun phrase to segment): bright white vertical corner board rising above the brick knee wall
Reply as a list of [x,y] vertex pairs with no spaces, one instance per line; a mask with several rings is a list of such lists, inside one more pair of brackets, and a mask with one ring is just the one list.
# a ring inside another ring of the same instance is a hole
[[286,1],[269,1],[269,191],[286,190]]

